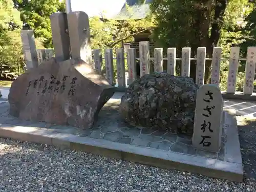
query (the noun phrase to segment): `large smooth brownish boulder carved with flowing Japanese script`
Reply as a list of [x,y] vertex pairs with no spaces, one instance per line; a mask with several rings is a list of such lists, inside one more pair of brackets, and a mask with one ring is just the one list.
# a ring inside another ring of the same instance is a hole
[[92,127],[114,88],[83,60],[45,60],[10,89],[10,114],[24,120]]

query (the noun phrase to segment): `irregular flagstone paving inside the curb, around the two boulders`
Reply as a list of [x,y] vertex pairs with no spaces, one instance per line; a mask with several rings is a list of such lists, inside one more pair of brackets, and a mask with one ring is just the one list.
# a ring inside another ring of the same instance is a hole
[[[127,124],[121,118],[118,112],[120,95],[107,102],[101,112],[94,127],[90,130],[80,130],[72,126],[50,125],[44,122],[22,121],[9,115],[9,103],[0,104],[0,122],[12,125],[25,125],[33,127],[47,127],[55,132],[68,133],[81,137],[90,137],[103,139],[117,143],[125,143],[143,147],[151,147],[159,150],[189,154],[194,156],[208,157],[212,159],[224,160],[225,135],[222,139],[222,147],[219,153],[211,153],[202,150],[196,150],[191,143],[191,137],[185,135],[176,135],[158,131],[156,129],[146,129],[143,127]],[[224,128],[223,128],[224,133]]]

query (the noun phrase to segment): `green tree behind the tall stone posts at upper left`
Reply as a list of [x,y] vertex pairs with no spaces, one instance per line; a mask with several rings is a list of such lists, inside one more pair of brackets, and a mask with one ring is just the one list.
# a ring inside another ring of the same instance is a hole
[[13,0],[20,11],[20,19],[25,29],[33,29],[45,48],[52,47],[50,15],[65,12],[65,3],[59,0]]

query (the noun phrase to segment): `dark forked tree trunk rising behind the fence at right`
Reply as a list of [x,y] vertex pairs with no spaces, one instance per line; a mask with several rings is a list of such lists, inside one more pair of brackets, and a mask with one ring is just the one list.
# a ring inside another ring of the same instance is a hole
[[[196,47],[206,47],[206,57],[212,58],[214,47],[218,46],[221,28],[223,26],[224,12],[227,0],[215,0],[215,5],[211,0],[202,0],[201,4],[195,4],[196,19],[194,22],[195,36],[198,42],[194,42]],[[214,18],[211,19],[211,12],[214,10]],[[210,36],[209,36],[209,29]],[[193,42],[191,42],[193,44]],[[192,47],[192,46],[191,46]],[[197,48],[194,49],[197,49]],[[193,55],[192,55],[193,56]],[[191,77],[196,78],[196,63],[191,62]],[[204,82],[209,83],[211,73],[211,61],[205,62]]]

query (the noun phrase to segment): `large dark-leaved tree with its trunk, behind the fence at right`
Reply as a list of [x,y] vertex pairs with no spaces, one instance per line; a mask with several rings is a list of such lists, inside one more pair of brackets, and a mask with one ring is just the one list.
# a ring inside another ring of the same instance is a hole
[[[155,0],[151,10],[157,27],[153,38],[161,47],[191,47],[196,56],[198,47],[206,47],[206,56],[212,57],[213,47],[224,47],[227,55],[232,45],[239,44],[247,0]],[[179,55],[180,56],[180,55]],[[205,80],[209,80],[211,62],[206,62]],[[195,78],[195,63],[191,63],[191,77]]]

